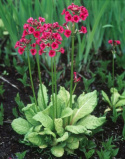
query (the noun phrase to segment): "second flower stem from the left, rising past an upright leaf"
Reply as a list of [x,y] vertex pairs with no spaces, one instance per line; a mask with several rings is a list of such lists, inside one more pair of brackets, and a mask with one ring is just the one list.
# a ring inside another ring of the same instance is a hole
[[42,98],[43,98],[43,103],[44,103],[44,109],[46,108],[45,104],[45,98],[43,94],[43,86],[42,86],[42,79],[41,79],[41,73],[40,73],[40,63],[39,63],[39,53],[37,50],[37,55],[36,55],[36,61],[37,61],[37,67],[38,67],[38,76],[39,76],[39,81],[40,81],[40,88],[41,88],[41,93],[42,93]]

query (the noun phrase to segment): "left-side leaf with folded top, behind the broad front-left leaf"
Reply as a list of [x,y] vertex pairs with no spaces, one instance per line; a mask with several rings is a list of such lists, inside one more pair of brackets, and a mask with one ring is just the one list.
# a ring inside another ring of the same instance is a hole
[[26,116],[26,119],[34,126],[39,125],[40,123],[33,119],[33,116],[36,114],[36,105],[35,104],[28,104],[26,107],[22,109]]

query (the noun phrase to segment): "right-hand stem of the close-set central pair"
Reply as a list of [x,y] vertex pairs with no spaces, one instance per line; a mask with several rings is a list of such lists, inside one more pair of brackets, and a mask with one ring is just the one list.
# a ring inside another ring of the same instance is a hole
[[[54,83],[55,83],[55,109],[57,111],[57,79],[56,79],[56,57],[54,57]],[[57,116],[57,112],[55,112],[55,116]]]

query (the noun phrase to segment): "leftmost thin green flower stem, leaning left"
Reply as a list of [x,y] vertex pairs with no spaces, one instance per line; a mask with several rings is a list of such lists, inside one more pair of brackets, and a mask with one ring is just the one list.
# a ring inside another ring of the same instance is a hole
[[29,74],[30,74],[30,82],[32,86],[33,96],[35,100],[35,104],[37,105],[35,91],[34,91],[34,85],[33,85],[33,79],[32,79],[32,73],[31,73],[31,65],[30,65],[30,57],[29,57],[29,49],[27,48],[27,58],[28,58],[28,67],[29,67]]

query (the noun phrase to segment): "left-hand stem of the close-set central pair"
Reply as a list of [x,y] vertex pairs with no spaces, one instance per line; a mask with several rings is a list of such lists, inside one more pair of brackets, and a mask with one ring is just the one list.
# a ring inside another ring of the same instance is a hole
[[54,77],[53,77],[53,59],[51,58],[51,78],[52,78],[52,103],[53,103],[53,119],[55,119],[56,108],[54,102]]

